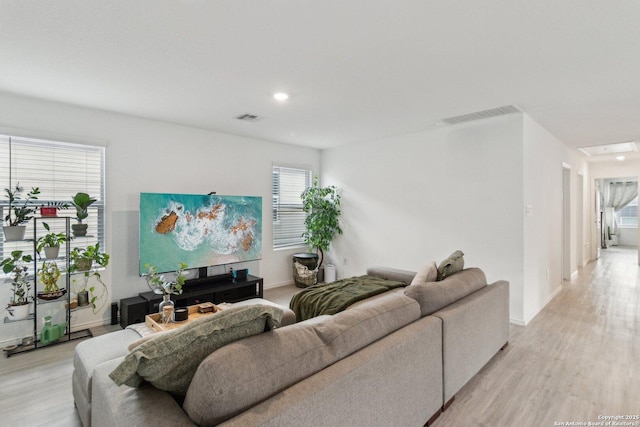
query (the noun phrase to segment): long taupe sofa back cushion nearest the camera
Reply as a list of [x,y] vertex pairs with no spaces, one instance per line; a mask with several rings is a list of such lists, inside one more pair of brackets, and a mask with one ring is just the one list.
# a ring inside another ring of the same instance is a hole
[[200,364],[183,408],[216,425],[419,318],[419,305],[395,294],[232,343]]

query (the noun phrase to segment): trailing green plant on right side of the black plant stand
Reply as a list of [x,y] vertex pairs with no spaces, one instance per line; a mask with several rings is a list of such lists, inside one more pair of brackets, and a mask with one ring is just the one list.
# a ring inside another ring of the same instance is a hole
[[[97,270],[104,268],[109,264],[109,255],[100,252],[100,244],[95,246],[89,245],[86,248],[74,248],[70,254],[71,273],[82,272],[82,287],[78,291],[78,305],[83,306],[91,304],[93,312],[97,313],[104,307],[106,297],[108,295],[107,285],[102,281],[102,276]],[[90,281],[94,279],[100,286],[89,286]],[[76,280],[73,280],[76,283]],[[98,306],[96,303],[102,300],[102,304]]]

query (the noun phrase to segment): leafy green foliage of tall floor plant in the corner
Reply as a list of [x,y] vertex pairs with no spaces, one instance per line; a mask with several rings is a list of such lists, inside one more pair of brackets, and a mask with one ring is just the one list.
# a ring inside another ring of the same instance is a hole
[[306,231],[302,234],[304,242],[320,252],[318,266],[324,260],[324,251],[329,249],[335,234],[342,234],[340,228],[340,193],[331,185],[320,187],[318,177],[313,185],[302,192],[302,209],[307,214],[304,221]]

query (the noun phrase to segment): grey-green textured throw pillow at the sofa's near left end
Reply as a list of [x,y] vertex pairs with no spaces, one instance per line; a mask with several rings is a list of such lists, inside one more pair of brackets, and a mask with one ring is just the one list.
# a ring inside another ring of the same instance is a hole
[[198,365],[216,349],[241,338],[280,325],[278,307],[231,307],[196,319],[134,348],[109,374],[118,385],[140,386],[145,380],[156,388],[184,396]]

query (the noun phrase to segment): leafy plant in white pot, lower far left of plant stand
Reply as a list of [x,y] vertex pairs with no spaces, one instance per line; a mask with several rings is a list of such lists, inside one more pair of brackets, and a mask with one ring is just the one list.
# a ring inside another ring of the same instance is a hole
[[11,257],[0,262],[4,274],[11,274],[12,296],[7,311],[12,320],[22,320],[29,316],[29,305],[33,298],[29,294],[31,284],[27,280],[27,264],[32,260],[31,255],[23,255],[22,251],[16,250],[11,252]]

